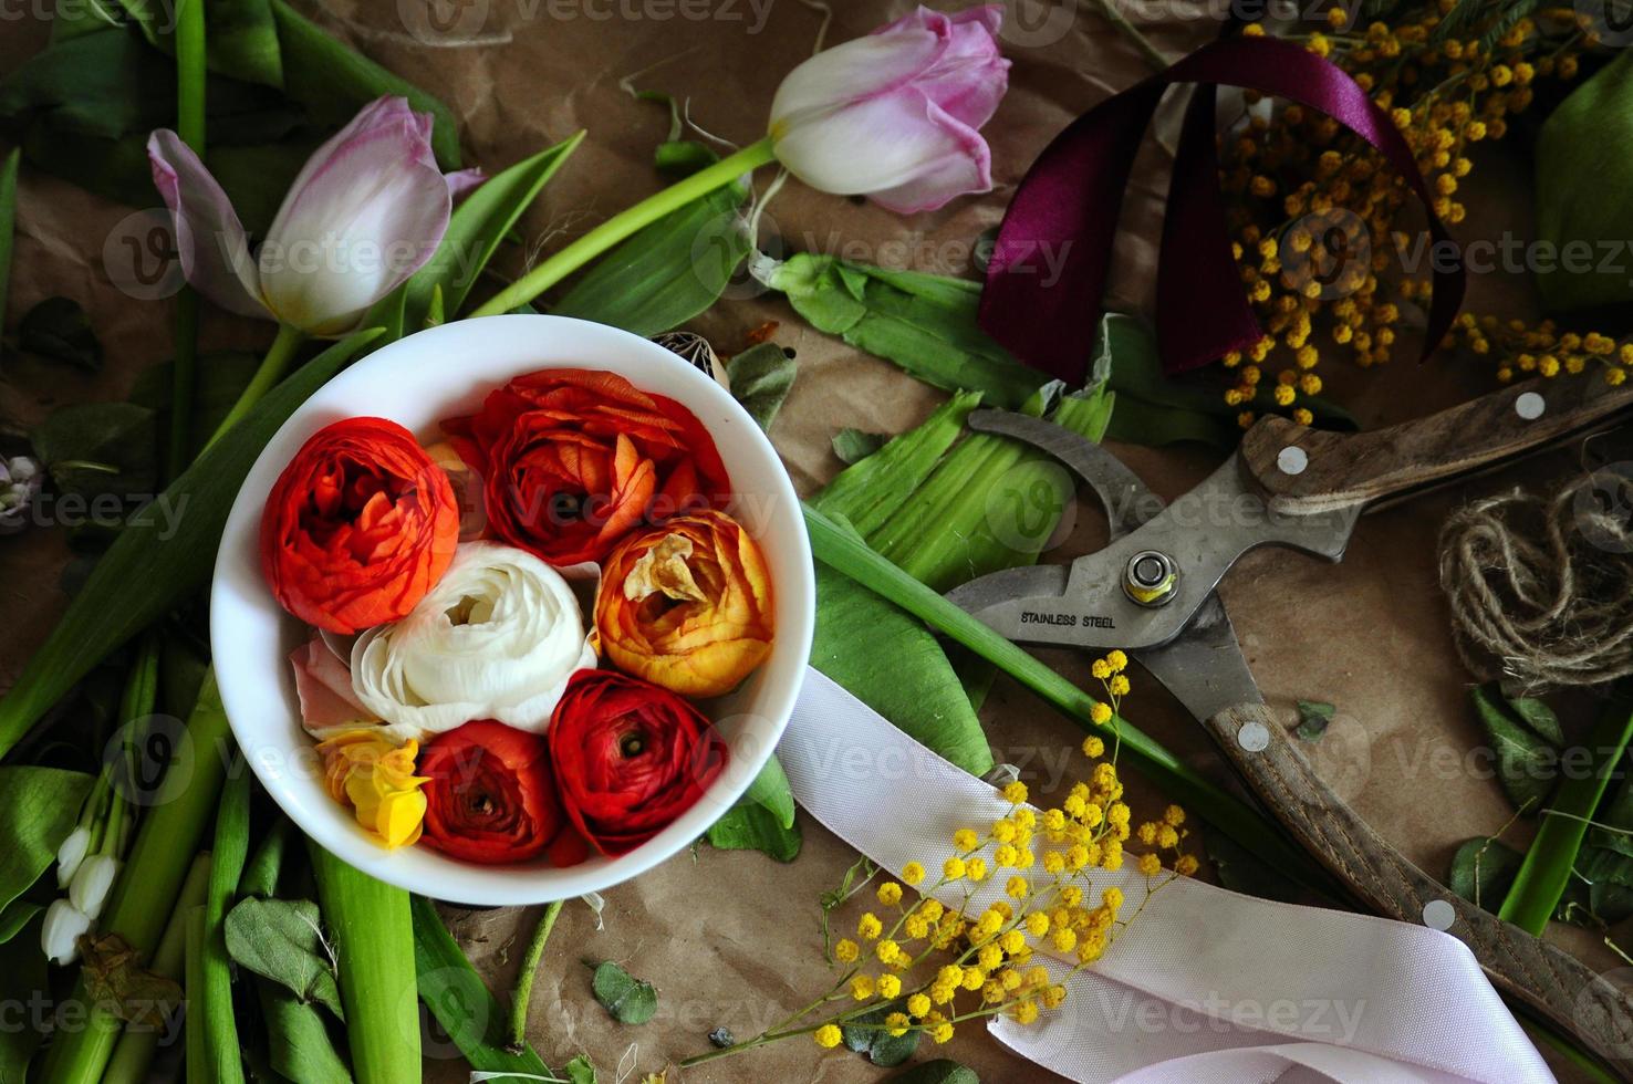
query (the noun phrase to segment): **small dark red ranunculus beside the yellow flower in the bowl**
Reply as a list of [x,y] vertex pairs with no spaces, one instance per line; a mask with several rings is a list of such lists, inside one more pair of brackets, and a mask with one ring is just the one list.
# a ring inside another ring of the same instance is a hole
[[465,723],[433,740],[416,771],[428,779],[420,839],[443,854],[521,862],[562,831],[550,753],[539,735],[493,720]]

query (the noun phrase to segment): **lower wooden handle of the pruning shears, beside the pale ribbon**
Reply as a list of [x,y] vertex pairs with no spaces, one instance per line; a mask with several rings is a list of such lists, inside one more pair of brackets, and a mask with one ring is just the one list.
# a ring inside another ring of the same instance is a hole
[[1448,927],[1434,924],[1466,944],[1497,988],[1576,1035],[1623,1079],[1633,1079],[1633,999],[1613,983],[1481,911],[1401,857],[1316,775],[1264,704],[1225,709],[1207,726],[1305,849],[1368,906],[1403,922],[1426,922],[1437,911],[1455,916]]

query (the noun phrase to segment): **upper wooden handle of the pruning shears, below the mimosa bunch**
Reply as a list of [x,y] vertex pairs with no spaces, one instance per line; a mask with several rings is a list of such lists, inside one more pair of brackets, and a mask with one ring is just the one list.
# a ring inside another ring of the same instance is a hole
[[1524,455],[1633,406],[1633,380],[1535,379],[1440,413],[1365,433],[1310,429],[1267,416],[1241,460],[1272,511],[1323,513],[1424,488]]

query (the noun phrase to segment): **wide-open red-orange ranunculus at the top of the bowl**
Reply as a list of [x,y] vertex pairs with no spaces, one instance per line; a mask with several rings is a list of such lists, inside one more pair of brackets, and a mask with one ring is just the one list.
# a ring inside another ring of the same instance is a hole
[[493,532],[552,565],[599,562],[642,522],[723,504],[732,493],[692,411],[616,372],[516,377],[444,428],[487,478]]

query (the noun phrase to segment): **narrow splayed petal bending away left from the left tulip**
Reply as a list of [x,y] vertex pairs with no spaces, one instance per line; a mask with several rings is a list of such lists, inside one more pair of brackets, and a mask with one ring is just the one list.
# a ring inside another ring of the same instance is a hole
[[147,139],[154,186],[170,207],[181,273],[229,312],[265,317],[250,240],[227,193],[180,136],[158,129]]

